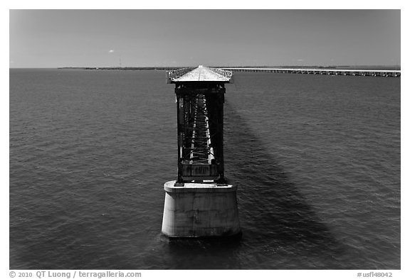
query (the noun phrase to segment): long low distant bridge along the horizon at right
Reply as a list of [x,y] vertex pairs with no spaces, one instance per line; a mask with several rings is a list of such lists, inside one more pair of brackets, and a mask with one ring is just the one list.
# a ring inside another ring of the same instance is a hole
[[353,70],[353,69],[321,69],[321,68],[261,68],[261,67],[224,67],[222,70],[235,72],[279,72],[287,74],[310,75],[358,75],[372,77],[400,77],[401,70]]

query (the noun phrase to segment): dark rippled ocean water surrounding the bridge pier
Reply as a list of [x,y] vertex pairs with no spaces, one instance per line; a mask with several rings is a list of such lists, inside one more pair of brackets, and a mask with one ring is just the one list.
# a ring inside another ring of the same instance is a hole
[[400,78],[237,72],[239,241],[161,234],[162,71],[10,70],[10,268],[400,269]]

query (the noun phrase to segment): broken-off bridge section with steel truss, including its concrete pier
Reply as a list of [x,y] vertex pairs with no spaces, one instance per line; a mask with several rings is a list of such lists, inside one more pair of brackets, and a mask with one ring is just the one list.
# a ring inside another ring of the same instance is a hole
[[167,72],[177,95],[178,176],[164,185],[166,236],[241,233],[236,186],[224,177],[224,94],[231,75],[201,65]]

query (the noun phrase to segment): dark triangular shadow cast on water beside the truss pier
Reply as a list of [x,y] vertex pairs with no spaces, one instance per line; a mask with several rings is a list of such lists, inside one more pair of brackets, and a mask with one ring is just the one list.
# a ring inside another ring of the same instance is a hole
[[342,246],[317,217],[298,186],[290,181],[235,108],[227,101],[225,107],[226,176],[238,185],[243,242],[263,242],[273,250],[292,246],[298,255],[340,253]]

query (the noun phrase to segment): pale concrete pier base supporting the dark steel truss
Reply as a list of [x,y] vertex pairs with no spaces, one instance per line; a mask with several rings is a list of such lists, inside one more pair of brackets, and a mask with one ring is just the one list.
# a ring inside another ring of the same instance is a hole
[[164,184],[162,233],[170,238],[238,236],[236,186],[216,183]]

